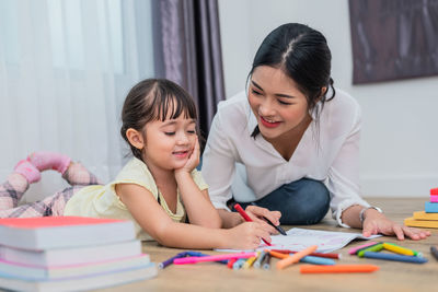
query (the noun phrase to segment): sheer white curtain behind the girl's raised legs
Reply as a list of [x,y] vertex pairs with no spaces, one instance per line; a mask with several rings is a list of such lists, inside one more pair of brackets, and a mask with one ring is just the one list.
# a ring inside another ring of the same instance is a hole
[[[154,74],[150,15],[142,0],[0,1],[1,179],[38,150],[114,178],[128,153],[119,135],[124,98]],[[27,200],[61,182],[45,172]]]

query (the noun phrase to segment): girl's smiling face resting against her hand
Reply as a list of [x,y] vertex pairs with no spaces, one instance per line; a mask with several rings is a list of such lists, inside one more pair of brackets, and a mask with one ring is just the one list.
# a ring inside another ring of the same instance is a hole
[[175,119],[153,120],[146,124],[142,135],[148,167],[177,170],[186,164],[195,147],[196,120],[184,113]]

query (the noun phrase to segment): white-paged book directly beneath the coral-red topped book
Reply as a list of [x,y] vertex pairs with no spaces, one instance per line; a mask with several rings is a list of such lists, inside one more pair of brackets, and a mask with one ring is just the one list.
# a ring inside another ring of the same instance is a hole
[[141,254],[141,242],[31,250],[0,245],[0,259],[32,266],[80,265],[132,257]]

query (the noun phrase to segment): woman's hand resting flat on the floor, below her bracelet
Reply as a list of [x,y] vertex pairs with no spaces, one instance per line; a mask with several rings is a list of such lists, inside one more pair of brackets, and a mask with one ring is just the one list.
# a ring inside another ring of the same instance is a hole
[[373,234],[395,235],[399,241],[403,241],[405,235],[414,241],[424,240],[430,232],[408,226],[401,226],[389,220],[384,214],[369,209],[365,212],[362,235],[368,237]]

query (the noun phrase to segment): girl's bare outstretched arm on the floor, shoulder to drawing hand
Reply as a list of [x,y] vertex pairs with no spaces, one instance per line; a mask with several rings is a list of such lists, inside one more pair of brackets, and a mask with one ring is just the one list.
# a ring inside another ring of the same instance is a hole
[[176,223],[165,213],[150,191],[132,184],[119,184],[116,192],[140,226],[160,244],[180,248],[256,248],[269,234],[256,222],[232,230],[208,229]]

